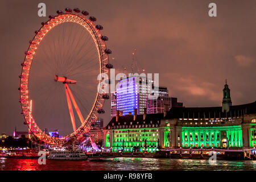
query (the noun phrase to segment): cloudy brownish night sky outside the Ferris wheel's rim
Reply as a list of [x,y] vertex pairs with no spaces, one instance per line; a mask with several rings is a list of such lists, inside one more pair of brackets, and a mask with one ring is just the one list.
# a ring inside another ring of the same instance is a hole
[[[46,3],[46,17],[38,3]],[[208,5],[217,4],[217,17]],[[233,105],[256,100],[256,1],[1,1],[0,133],[27,130],[20,114],[20,63],[28,41],[48,15],[79,7],[96,16],[108,36],[110,61],[130,68],[132,52],[146,73],[159,73],[159,85],[187,107],[220,106],[225,79]],[[114,57],[114,60],[112,60]],[[103,115],[110,118],[109,103]],[[52,127],[61,129],[59,123]],[[72,127],[72,126],[70,126]]]

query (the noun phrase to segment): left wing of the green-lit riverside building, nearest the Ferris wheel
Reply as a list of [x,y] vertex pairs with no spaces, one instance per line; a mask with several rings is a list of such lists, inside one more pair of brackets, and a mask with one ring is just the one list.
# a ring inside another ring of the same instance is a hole
[[114,152],[155,152],[161,118],[163,114],[117,115],[104,130],[105,147]]

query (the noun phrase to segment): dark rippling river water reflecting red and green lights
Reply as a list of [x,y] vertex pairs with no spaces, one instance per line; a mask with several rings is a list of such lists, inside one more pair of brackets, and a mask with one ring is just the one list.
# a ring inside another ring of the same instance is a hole
[[0,158],[1,171],[139,171],[139,170],[197,170],[197,171],[254,171],[256,160],[217,160],[210,164],[208,160],[197,159],[154,159],[154,158],[110,158],[108,162],[90,162],[88,160],[46,160],[38,164],[38,159]]

